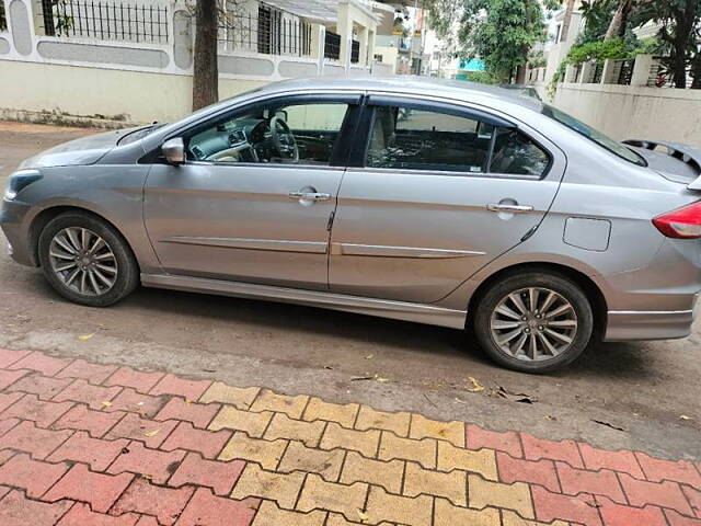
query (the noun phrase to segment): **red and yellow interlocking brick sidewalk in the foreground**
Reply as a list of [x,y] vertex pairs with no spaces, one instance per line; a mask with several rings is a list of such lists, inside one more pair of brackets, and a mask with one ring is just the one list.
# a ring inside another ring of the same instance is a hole
[[701,462],[0,348],[2,526],[701,526]]

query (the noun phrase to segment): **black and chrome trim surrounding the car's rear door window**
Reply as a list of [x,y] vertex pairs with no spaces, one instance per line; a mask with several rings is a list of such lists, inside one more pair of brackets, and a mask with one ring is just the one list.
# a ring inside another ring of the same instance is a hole
[[[370,137],[372,134],[372,126],[375,123],[375,111],[378,106],[399,106],[399,107],[412,107],[415,110],[447,113],[458,117],[473,118],[476,121],[492,124],[494,126],[516,129],[524,134],[529,140],[538,146],[547,156],[548,164],[540,175],[528,175],[518,173],[501,173],[491,172],[492,156],[494,155],[494,141],[496,140],[496,134],[492,135],[490,141],[490,150],[486,159],[486,170],[482,172],[468,172],[461,170],[423,170],[423,169],[409,169],[409,168],[380,168],[369,167],[367,164],[367,156],[370,147]],[[531,134],[525,130],[518,124],[507,121],[504,117],[494,115],[485,110],[475,107],[460,106],[448,101],[434,101],[425,99],[414,99],[411,96],[392,95],[392,94],[369,94],[363,102],[361,114],[358,119],[358,126],[361,133],[365,134],[365,141],[355,141],[350,159],[348,161],[348,168],[363,169],[364,171],[382,171],[387,173],[402,173],[402,174],[415,174],[415,175],[450,175],[450,176],[470,176],[470,178],[489,178],[489,179],[517,179],[527,181],[542,181],[550,175],[552,167],[555,162],[555,156],[543,142],[535,138]]]

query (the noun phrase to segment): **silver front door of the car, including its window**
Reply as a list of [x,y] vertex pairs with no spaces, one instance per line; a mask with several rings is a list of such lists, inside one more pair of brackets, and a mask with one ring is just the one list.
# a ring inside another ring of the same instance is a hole
[[[179,133],[186,162],[154,164],[145,188],[146,228],[163,270],[326,290],[341,138],[359,100],[277,96]],[[296,146],[306,129],[323,130],[326,144]]]

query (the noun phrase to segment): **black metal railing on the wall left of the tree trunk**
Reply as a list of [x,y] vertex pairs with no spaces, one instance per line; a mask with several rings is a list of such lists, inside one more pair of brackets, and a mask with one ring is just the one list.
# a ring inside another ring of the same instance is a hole
[[169,42],[166,7],[94,0],[42,0],[37,26],[47,36]]

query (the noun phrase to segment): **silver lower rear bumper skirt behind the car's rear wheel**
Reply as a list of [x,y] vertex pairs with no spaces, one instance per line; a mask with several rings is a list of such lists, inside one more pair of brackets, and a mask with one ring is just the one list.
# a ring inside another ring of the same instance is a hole
[[[698,305],[698,304],[697,304]],[[604,341],[674,340],[691,334],[698,308],[667,311],[609,311]]]

